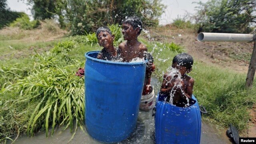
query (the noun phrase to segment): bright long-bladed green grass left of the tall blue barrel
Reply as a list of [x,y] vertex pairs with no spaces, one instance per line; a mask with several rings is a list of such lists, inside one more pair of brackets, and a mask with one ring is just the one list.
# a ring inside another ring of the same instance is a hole
[[48,136],[52,128],[52,135],[56,124],[76,131],[84,123],[84,79],[75,76],[84,62],[70,57],[76,45],[67,40],[46,53],[36,52],[30,69],[24,69],[29,70],[26,75],[21,75],[22,68],[2,66],[0,74],[16,80],[4,83],[0,90],[0,142],[25,132],[33,136],[41,129]]

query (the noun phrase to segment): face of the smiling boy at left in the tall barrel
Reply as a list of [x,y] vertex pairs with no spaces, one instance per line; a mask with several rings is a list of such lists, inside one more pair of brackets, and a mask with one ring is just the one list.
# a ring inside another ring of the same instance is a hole
[[105,31],[100,32],[97,39],[100,46],[103,46],[104,48],[109,48],[110,46],[113,46],[113,40],[115,39],[115,36],[111,36],[110,33]]

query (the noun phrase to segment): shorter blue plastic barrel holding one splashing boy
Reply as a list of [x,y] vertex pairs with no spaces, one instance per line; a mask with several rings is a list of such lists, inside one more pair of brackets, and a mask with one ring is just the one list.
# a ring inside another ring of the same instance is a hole
[[165,97],[158,94],[156,100],[156,144],[200,144],[201,115],[194,95],[187,108],[166,103]]

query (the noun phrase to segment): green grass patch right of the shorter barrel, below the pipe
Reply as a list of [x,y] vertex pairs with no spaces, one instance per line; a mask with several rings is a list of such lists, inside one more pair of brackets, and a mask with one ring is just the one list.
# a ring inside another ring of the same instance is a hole
[[208,116],[220,126],[233,124],[239,132],[248,130],[249,111],[256,104],[256,84],[245,88],[245,74],[195,63],[190,75],[195,79],[194,95]]

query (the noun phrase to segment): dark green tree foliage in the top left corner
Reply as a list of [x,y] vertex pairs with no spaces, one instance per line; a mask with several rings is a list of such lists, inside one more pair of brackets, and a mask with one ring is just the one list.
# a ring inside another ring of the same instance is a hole
[[23,12],[12,12],[7,5],[7,0],[0,0],[0,29],[7,26],[24,14]]

